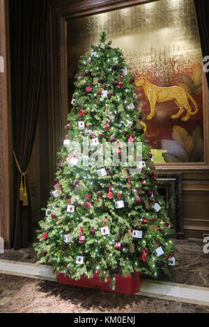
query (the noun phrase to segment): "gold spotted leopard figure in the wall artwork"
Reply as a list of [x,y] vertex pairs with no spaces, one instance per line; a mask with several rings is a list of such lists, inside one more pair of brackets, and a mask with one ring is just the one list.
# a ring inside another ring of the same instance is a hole
[[[139,79],[136,79],[135,85],[144,88],[146,97],[148,97],[148,100],[150,102],[150,114],[146,116],[148,120],[152,119],[153,117],[155,117],[155,115],[157,115],[156,102],[166,102],[169,100],[174,100],[177,106],[179,106],[180,110],[178,111],[178,113],[176,113],[176,115],[171,115],[171,118],[179,118],[180,115],[184,111],[186,111],[187,115],[181,118],[181,120],[183,120],[184,122],[187,122],[191,115],[196,115],[196,113],[199,112],[199,108],[193,97],[189,95],[189,93],[187,93],[184,88],[180,88],[180,86],[170,86],[167,88],[156,86],[150,83],[148,79],[146,79],[146,77],[139,77]],[[189,105],[188,98],[193,102],[195,106],[194,111],[192,111],[192,108]]]

